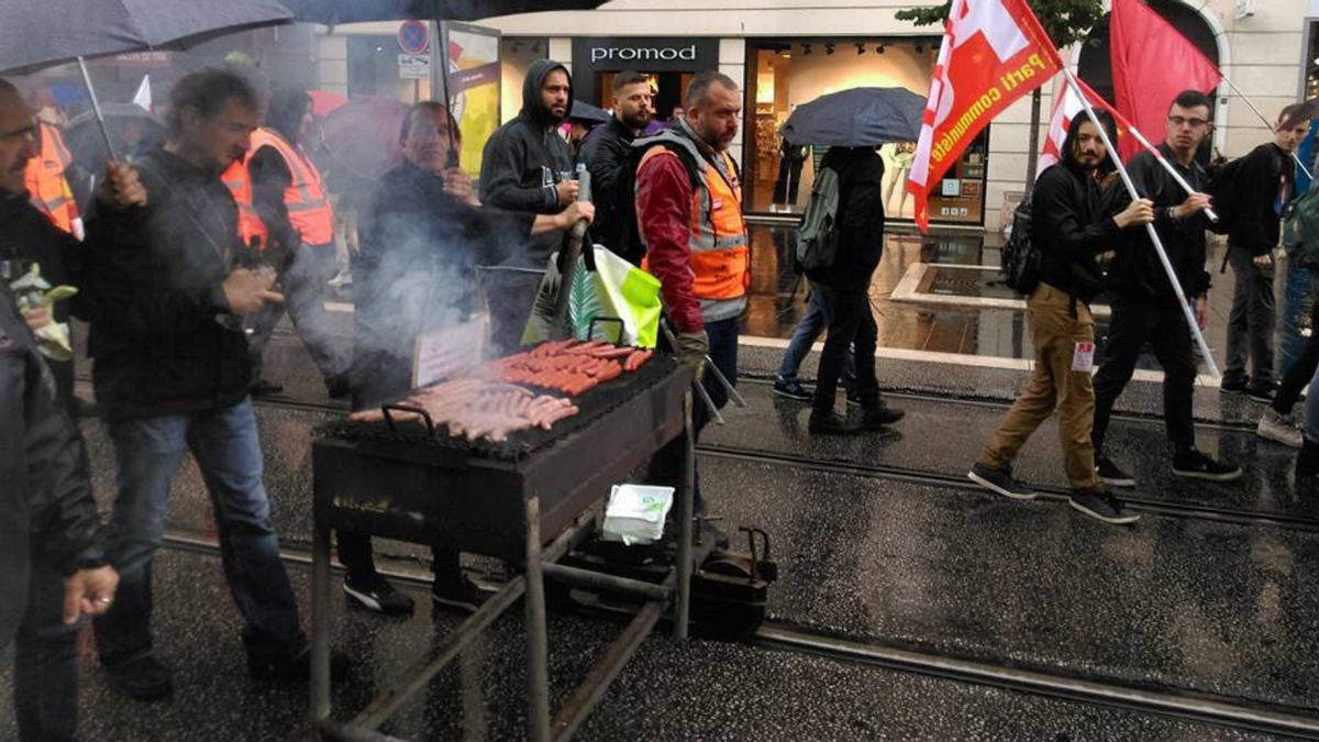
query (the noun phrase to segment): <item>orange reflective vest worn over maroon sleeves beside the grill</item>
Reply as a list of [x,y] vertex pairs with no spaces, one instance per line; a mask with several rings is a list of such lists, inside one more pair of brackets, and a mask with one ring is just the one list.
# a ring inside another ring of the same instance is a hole
[[[695,276],[694,293],[696,298],[710,301],[741,298],[751,287],[751,250],[747,222],[743,219],[737,169],[727,153],[719,153],[728,172],[728,178],[724,178],[719,168],[700,158],[691,145],[678,144],[696,154],[698,162],[704,164],[699,187],[691,194],[691,230],[687,240],[691,272]],[[652,157],[660,156],[678,154],[665,147],[650,147],[641,156],[637,170]]]

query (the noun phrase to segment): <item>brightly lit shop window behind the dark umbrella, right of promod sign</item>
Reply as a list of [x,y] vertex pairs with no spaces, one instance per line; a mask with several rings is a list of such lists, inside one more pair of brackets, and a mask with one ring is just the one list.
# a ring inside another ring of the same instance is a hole
[[[794,40],[748,48],[747,187],[754,213],[801,214],[810,199],[824,147],[787,143],[780,132],[793,110],[822,95],[853,87],[905,87],[925,95],[930,88],[936,38]],[[886,143],[884,202],[890,218],[910,219],[915,206],[907,195],[914,143]],[[973,223],[984,218],[984,177],[988,140],[981,135],[935,189],[930,218]]]

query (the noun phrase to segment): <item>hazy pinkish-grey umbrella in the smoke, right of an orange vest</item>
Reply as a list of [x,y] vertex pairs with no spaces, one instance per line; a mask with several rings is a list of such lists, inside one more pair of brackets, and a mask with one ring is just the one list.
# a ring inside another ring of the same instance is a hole
[[379,178],[402,157],[398,132],[406,115],[408,106],[393,98],[353,98],[326,116],[322,144],[353,174]]

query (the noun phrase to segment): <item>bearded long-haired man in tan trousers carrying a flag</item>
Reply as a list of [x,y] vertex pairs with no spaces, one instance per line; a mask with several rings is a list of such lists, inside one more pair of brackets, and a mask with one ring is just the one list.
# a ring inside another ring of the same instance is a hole
[[[1096,118],[1109,141],[1117,139],[1112,118],[1103,111]],[[1146,199],[1116,214],[1104,205],[1099,178],[1115,165],[1088,118],[1072,121],[1062,153],[1058,165],[1041,173],[1031,201],[1031,238],[1042,256],[1039,285],[1026,301],[1034,375],[967,477],[1005,498],[1034,499],[1034,491],[1012,478],[1012,462],[1057,409],[1071,506],[1104,523],[1132,523],[1140,516],[1105,492],[1095,473],[1089,442],[1095,388],[1086,362],[1095,346],[1089,302],[1104,288],[1095,256],[1112,250],[1122,231],[1150,223],[1154,211]]]

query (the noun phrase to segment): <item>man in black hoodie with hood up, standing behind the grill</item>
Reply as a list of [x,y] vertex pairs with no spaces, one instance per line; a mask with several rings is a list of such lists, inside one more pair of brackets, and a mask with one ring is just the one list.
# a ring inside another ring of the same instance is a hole
[[[572,149],[559,135],[572,106],[572,78],[553,59],[538,59],[522,83],[522,111],[485,143],[481,152],[480,201],[487,206],[530,214],[558,214],[576,201]],[[504,271],[487,272],[491,334],[497,350],[512,350],[536,301],[539,276],[550,255],[563,244],[554,230],[528,240],[504,261]]]

